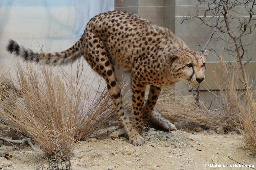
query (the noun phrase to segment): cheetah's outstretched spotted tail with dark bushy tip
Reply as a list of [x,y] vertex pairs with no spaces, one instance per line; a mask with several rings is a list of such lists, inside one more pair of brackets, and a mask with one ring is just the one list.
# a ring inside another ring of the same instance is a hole
[[73,63],[83,55],[83,49],[81,41],[77,41],[72,47],[59,53],[44,53],[44,52],[33,52],[31,49],[19,46],[14,40],[9,40],[7,51],[11,54],[14,52],[15,55],[22,57],[25,61],[34,61],[38,63],[43,60],[45,64],[49,65],[67,65]]

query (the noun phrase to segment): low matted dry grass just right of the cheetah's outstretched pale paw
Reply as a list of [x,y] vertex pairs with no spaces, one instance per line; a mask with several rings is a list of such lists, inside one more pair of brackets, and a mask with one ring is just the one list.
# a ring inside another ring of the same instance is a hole
[[[172,93],[161,95],[156,108],[177,128],[200,131],[226,125],[216,111],[199,108],[192,95],[174,96]],[[203,103],[200,105],[203,106]]]

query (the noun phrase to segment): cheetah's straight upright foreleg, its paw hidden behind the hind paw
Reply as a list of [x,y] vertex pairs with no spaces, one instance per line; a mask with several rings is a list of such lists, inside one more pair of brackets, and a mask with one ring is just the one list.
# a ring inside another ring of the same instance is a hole
[[132,105],[133,105],[133,120],[134,128],[139,134],[143,130],[143,103],[145,95],[145,86],[136,83],[135,79],[132,79]]

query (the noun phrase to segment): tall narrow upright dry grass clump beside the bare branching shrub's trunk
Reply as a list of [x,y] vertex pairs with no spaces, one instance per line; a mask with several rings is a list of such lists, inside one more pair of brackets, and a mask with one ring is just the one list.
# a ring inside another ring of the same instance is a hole
[[242,97],[244,90],[240,89],[239,85],[241,71],[237,61],[224,62],[220,57],[218,68],[222,77],[217,77],[213,68],[213,76],[218,86],[220,93],[220,100],[217,100],[219,109],[217,110],[223,117],[223,121],[227,122],[226,129],[236,129],[236,123],[238,121],[238,114],[240,112],[238,108],[238,100]]

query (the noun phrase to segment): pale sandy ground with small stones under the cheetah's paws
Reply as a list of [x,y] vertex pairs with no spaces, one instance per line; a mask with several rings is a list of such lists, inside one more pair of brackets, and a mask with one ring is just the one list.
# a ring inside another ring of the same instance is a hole
[[[241,148],[241,135],[230,132],[220,135],[214,131],[188,133],[182,130],[170,133],[145,129],[145,144],[132,146],[123,129],[108,128],[92,135],[87,141],[77,142],[73,151],[73,170],[212,170],[251,169],[236,167],[238,163],[256,166],[255,155]],[[11,166],[0,169],[36,169],[27,163],[26,155],[40,152],[21,146],[25,155],[13,146],[2,145],[0,152],[8,152]],[[0,162],[1,165],[1,162]],[[209,167],[207,167],[209,166]],[[211,167],[212,166],[212,167]],[[218,166],[218,167],[217,167]],[[235,167],[234,167],[235,166]],[[241,166],[241,165],[240,165]],[[41,168],[40,168],[41,170]]]

